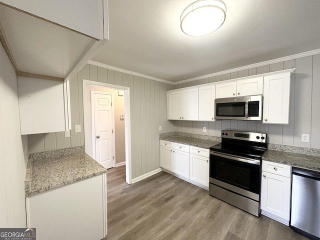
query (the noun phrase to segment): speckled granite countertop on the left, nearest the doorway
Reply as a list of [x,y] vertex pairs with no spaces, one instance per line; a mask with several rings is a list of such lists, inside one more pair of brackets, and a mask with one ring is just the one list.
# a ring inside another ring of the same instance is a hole
[[25,196],[106,172],[84,152],[49,157],[29,157],[25,171]]

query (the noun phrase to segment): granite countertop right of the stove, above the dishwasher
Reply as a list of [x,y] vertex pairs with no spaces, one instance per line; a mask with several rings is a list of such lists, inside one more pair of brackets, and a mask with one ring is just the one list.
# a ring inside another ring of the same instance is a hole
[[267,149],[262,155],[262,160],[320,172],[320,156]]

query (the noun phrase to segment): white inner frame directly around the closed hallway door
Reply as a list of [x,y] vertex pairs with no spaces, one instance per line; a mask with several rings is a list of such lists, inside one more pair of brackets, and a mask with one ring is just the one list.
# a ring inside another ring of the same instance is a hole
[[112,134],[112,167],[115,166],[115,127],[114,127],[114,96],[112,92],[106,92],[106,91],[97,91],[97,90],[90,90],[90,94],[91,94],[91,123],[92,123],[92,155],[93,155],[93,159],[95,159],[96,155],[95,155],[95,150],[93,151],[93,149],[95,149],[95,118],[94,118],[94,108],[92,107],[94,105],[94,101],[93,101],[93,94],[105,94],[105,95],[111,95],[111,111],[112,111],[112,130],[113,130],[113,134]]

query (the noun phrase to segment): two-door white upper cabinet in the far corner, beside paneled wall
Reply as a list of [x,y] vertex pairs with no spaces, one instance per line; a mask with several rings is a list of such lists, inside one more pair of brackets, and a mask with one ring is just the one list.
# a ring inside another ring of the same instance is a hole
[[169,120],[198,119],[198,88],[170,91],[167,93]]

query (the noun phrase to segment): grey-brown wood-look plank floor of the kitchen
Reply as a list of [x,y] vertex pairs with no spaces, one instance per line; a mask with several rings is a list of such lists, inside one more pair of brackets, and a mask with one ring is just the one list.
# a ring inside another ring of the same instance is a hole
[[107,172],[107,224],[103,240],[308,239],[164,171],[129,185],[124,166]]

